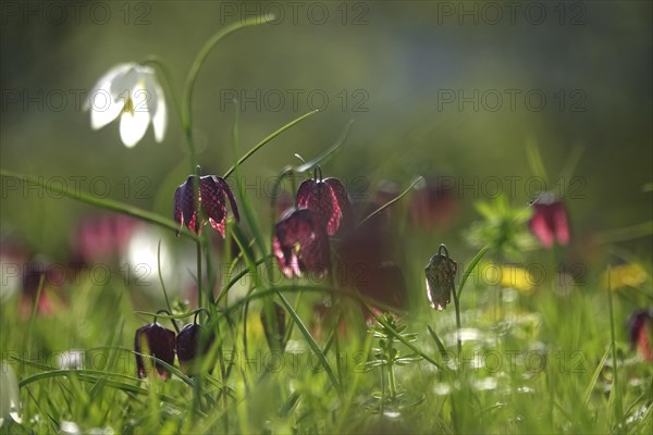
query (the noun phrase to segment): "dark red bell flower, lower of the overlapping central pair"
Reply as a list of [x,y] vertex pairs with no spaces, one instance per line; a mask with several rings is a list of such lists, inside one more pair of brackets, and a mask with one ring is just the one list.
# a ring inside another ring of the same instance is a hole
[[309,270],[322,276],[330,266],[329,236],[309,209],[289,209],[274,226],[274,256],[284,275],[301,276]]

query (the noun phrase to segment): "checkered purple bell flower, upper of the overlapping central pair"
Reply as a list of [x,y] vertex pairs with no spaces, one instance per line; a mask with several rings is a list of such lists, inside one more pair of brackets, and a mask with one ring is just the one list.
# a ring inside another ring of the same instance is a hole
[[352,201],[340,179],[322,179],[321,172],[318,171],[316,170],[315,179],[307,179],[299,185],[297,207],[313,211],[320,225],[330,236],[333,236],[341,223],[346,226],[352,223],[354,216]]

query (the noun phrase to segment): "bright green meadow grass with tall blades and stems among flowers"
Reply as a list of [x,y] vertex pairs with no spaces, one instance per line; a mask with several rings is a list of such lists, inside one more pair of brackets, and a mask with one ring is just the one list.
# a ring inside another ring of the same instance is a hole
[[[193,63],[183,98],[173,98],[189,148],[189,173],[198,164],[190,116],[196,76],[219,40],[249,24],[211,38]],[[149,62],[168,76],[159,60]],[[169,90],[174,97],[174,89]],[[325,277],[281,275],[271,243],[276,198],[269,204],[249,198],[239,171],[259,149],[313,114],[244,151],[236,111],[233,165],[224,178],[235,176],[243,219],[227,221],[220,249],[213,249],[208,227],[201,235],[183,228],[184,238],[175,240],[195,244],[189,253],[196,262],[190,272],[196,278],[194,301],[180,297],[162,274],[150,283],[158,295],[152,296],[128,275],[94,278],[91,264],[70,272],[57,290],[41,276],[35,297],[25,298],[20,290],[2,301],[1,359],[3,370],[10,364],[17,376],[22,411],[21,422],[7,419],[0,433],[651,433],[653,366],[629,348],[626,330],[630,312],[651,303],[639,290],[650,288],[650,270],[636,286],[609,289],[601,278],[603,268],[560,284],[567,275],[557,275],[551,260],[559,252],[538,249],[529,257],[519,244],[510,245],[525,231],[528,216],[513,213],[507,202],[496,201],[495,209],[479,206],[490,223],[477,227],[477,236],[490,237],[486,245],[477,251],[463,241],[448,247],[447,256],[459,270],[454,303],[444,311],[429,307],[428,257],[420,254],[434,254],[439,244],[431,246],[432,234],[410,227],[402,208],[420,178],[358,221],[360,225],[390,210],[399,215],[389,237],[404,256],[407,307],[381,315],[370,306],[387,311],[386,306],[350,284],[341,285],[333,270]],[[349,126],[322,154],[281,169],[278,183],[326,167]],[[530,158],[541,170],[532,152]],[[39,183],[7,170],[1,175]],[[195,183],[196,206],[198,188]],[[58,194],[168,233],[181,226],[120,202]],[[509,219],[496,224],[493,213]],[[482,278],[484,270],[505,262],[512,252],[521,261],[545,264],[547,277],[525,290]],[[122,270],[118,258],[104,265]],[[169,291],[176,296],[169,297]],[[45,297],[53,306],[50,313],[39,309]],[[27,310],[25,301],[30,303]],[[317,314],[318,304],[329,308],[325,314]],[[138,356],[149,370],[138,378],[135,332],[153,316],[176,330],[196,314],[215,337],[198,373],[187,375],[178,361],[158,360],[143,346]],[[156,374],[156,363],[170,378]]]

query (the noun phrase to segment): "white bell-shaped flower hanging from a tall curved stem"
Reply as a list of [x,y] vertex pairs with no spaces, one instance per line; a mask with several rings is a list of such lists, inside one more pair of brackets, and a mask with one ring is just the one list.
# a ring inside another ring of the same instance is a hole
[[155,138],[163,140],[168,113],[163,90],[155,70],[137,63],[121,63],[104,74],[88,95],[90,126],[98,129],[120,116],[120,137],[133,147],[152,122]]

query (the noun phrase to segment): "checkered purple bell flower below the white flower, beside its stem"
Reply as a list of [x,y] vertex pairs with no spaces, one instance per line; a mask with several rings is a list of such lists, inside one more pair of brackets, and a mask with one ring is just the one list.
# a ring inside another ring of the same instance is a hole
[[[197,209],[195,207],[195,187],[198,184]],[[226,182],[215,175],[198,177],[190,175],[174,192],[174,220],[180,226],[186,225],[193,233],[201,234],[201,226],[208,219],[211,227],[224,237],[226,225],[226,198],[234,217],[238,221],[238,207]],[[199,211],[199,213],[198,213]],[[199,214],[199,215],[198,215]],[[180,232],[177,231],[177,236]]]

